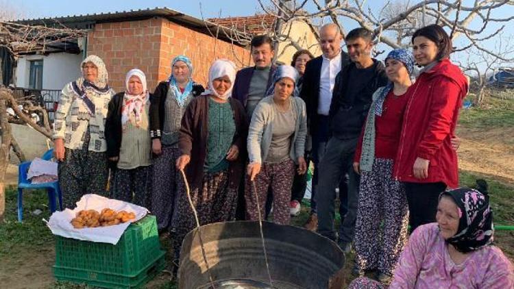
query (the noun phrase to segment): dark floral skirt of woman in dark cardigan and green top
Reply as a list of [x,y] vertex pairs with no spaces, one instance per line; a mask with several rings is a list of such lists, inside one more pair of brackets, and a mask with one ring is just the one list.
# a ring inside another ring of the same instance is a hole
[[[201,187],[191,189],[191,199],[200,225],[234,221],[236,218],[237,188],[229,188],[228,170],[204,173]],[[180,186],[171,221],[171,238],[175,262],[186,234],[197,227],[195,214],[189,204],[185,186]]]

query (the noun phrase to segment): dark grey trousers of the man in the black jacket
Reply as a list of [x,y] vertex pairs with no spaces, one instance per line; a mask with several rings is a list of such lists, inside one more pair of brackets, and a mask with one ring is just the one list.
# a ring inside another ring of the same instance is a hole
[[[348,175],[348,212],[344,220],[341,219],[341,227],[339,229],[339,240],[341,242],[352,242],[355,232],[358,185],[360,181],[359,175],[353,169],[357,141],[358,138],[348,140],[341,140],[335,137],[330,138],[326,147],[326,153],[319,163],[319,192],[316,196],[318,233],[332,240],[336,240],[336,231],[334,229],[335,189],[339,185],[341,178],[345,174]],[[340,194],[341,191],[339,191]],[[341,214],[341,216],[344,216],[344,214]]]

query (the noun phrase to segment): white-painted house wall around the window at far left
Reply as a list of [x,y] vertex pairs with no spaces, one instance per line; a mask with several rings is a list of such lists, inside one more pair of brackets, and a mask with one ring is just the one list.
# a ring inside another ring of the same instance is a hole
[[61,90],[65,84],[80,75],[82,54],[51,53],[45,55],[25,55],[18,59],[16,66],[16,86],[28,88],[30,60],[43,60],[42,89]]

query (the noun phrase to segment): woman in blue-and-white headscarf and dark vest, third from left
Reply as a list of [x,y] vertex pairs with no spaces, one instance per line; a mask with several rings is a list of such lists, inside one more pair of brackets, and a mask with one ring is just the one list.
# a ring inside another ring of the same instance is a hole
[[191,60],[184,55],[178,55],[171,61],[169,79],[158,84],[151,97],[150,136],[154,168],[150,210],[157,217],[157,227],[160,231],[169,229],[175,194],[181,179],[175,169],[175,162],[180,156],[180,121],[189,102],[204,92],[204,87],[195,83],[191,75]]

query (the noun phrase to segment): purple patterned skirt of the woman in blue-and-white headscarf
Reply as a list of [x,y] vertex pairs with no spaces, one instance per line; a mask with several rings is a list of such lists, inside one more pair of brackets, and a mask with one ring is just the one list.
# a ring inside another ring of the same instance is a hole
[[180,157],[178,147],[162,147],[162,154],[154,158],[151,176],[151,208],[159,230],[169,229],[182,175],[175,163]]

